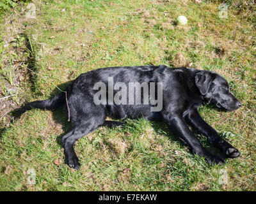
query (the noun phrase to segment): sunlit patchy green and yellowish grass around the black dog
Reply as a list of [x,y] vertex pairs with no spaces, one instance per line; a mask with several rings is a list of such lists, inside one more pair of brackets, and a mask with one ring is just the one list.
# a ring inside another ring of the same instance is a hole
[[[36,19],[26,19],[26,11],[22,11],[26,4],[20,4],[13,13],[15,22],[8,22],[3,29],[6,40],[8,29],[17,27],[19,32],[12,33],[15,52],[1,52],[0,43],[0,53],[11,55],[4,58],[10,59],[6,62],[10,67],[27,57],[19,69],[29,67],[38,73],[17,85],[17,103],[48,99],[58,93],[51,83],[62,89],[66,82],[92,69],[193,62],[194,68],[216,71],[227,78],[243,104],[236,112],[200,108],[202,117],[241,151],[241,157],[228,159],[223,166],[210,166],[190,154],[164,124],[126,120],[124,129],[100,128],[76,143],[81,162],[81,170],[76,171],[65,164],[60,145],[61,136],[72,128],[66,114],[61,108],[54,112],[31,110],[1,133],[0,190],[256,190],[256,32],[251,17],[230,7],[228,18],[221,19],[216,1],[200,5],[160,0],[33,3]],[[179,15],[188,18],[187,25],[175,25]],[[9,11],[0,25],[8,16]],[[8,77],[13,79],[16,73],[8,66],[3,68],[10,75],[1,72],[1,76],[10,84]],[[220,154],[204,136],[198,137],[207,149]],[[27,182],[30,169],[35,169],[35,185]],[[223,170],[228,175],[226,184],[220,182]]]

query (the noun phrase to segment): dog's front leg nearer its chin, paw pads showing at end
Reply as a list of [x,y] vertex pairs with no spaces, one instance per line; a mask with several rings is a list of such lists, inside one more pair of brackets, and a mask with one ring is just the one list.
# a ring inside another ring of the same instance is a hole
[[221,149],[224,154],[230,158],[235,158],[240,155],[239,150],[230,145],[230,143],[226,142],[221,138],[221,136],[213,129],[204,119],[202,119],[201,115],[198,113],[198,110],[193,109],[189,112],[188,122],[197,129],[202,135],[205,135],[207,139],[216,147]]

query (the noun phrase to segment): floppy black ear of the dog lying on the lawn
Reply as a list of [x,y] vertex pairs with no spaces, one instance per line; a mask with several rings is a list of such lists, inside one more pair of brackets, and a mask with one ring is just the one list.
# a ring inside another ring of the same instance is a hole
[[196,87],[198,87],[202,95],[207,94],[211,82],[214,80],[215,75],[210,71],[199,71],[195,75]]

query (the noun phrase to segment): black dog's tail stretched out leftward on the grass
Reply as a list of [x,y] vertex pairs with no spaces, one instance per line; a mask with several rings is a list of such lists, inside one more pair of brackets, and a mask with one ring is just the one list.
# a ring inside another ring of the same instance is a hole
[[40,108],[40,109],[56,109],[59,106],[65,103],[65,92],[61,92],[60,94],[54,96],[52,99],[48,100],[40,100],[33,101],[22,106],[23,110],[31,110],[32,108]]

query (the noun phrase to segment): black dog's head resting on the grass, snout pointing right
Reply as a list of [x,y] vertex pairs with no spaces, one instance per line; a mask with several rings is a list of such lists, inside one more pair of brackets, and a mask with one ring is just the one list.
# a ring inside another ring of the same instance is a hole
[[233,111],[242,106],[230,92],[227,80],[214,71],[199,71],[196,73],[195,84],[204,103],[212,103],[227,111]]

